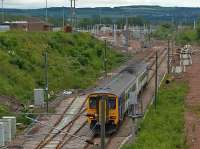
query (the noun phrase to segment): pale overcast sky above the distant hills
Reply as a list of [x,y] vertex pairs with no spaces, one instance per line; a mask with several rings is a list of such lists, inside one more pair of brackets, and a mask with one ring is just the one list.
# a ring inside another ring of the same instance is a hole
[[[4,0],[6,8],[42,8],[46,0]],[[70,0],[48,0],[48,7],[68,6]],[[200,7],[200,0],[77,0],[77,7],[160,5]]]

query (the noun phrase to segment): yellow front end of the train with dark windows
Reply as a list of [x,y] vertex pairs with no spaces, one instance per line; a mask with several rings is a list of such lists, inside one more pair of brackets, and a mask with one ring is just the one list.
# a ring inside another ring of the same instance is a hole
[[93,93],[87,97],[87,117],[90,128],[96,133],[100,130],[101,111],[100,101],[105,101],[105,127],[108,133],[115,131],[119,125],[118,97],[109,93]]

